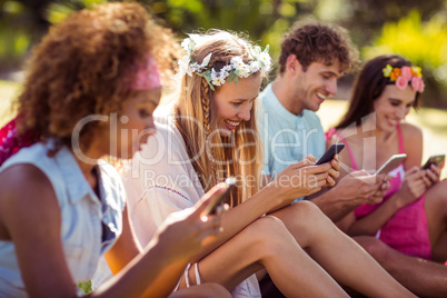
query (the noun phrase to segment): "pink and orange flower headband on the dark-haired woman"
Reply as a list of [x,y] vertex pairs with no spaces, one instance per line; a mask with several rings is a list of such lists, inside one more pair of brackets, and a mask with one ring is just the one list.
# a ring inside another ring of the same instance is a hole
[[401,68],[393,68],[390,64],[387,64],[383,71],[386,78],[396,83],[396,87],[400,90],[407,88],[408,83],[411,83],[413,90],[417,92],[424,92],[424,81],[423,74],[420,72],[420,67],[401,67]]

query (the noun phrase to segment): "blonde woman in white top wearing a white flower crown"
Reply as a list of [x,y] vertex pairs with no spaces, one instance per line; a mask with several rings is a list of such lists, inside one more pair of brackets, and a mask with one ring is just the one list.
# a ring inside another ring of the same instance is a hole
[[140,242],[222,179],[235,177],[238,187],[227,199],[231,209],[222,216],[222,235],[201,250],[179,287],[205,280],[234,297],[260,297],[255,274],[267,271],[287,297],[346,297],[335,280],[367,296],[411,296],[315,205],[291,205],[332,185],[336,160],[297,162],[259,190],[255,107],[270,68],[267,51],[217,30],[190,34],[182,47],[187,54],[173,105],[156,111],[158,147],[145,147],[125,171]]

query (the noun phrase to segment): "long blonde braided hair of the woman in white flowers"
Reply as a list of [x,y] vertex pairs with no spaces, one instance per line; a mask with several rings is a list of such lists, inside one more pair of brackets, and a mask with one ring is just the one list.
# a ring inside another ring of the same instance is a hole
[[[236,34],[212,30],[201,37],[201,41],[196,44],[192,52],[192,59],[199,63],[210,52],[212,52],[210,62],[217,69],[229,64],[234,57],[241,57],[245,63],[252,59],[248,51],[249,41]],[[258,71],[252,76],[261,74]],[[185,74],[179,79],[181,83],[176,93],[176,125],[183,137],[188,155],[205,190],[209,190],[230,176],[255,178],[255,181],[244,182],[244,187],[239,181],[239,187],[227,201],[230,206],[237,206],[255,195],[259,188],[262,148],[256,127],[256,100],[250,120],[241,121],[231,137],[221,137],[217,130],[213,101],[219,87],[212,91],[206,79],[196,73],[192,77]],[[230,148],[215,147],[231,142]]]

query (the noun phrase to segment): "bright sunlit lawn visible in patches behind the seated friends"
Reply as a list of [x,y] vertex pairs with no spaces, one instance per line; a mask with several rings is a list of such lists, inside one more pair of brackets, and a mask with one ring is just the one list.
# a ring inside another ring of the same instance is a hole
[[[13,118],[10,109],[11,100],[18,96],[21,86],[16,82],[0,80],[0,126],[3,126]],[[332,127],[347,108],[345,100],[327,100],[321,105],[318,115],[325,129]],[[411,111],[407,117],[408,122],[423,129],[424,132],[424,157],[426,160],[430,155],[447,153],[447,111],[436,109],[420,109]],[[447,170],[444,169],[443,178],[447,178]]]

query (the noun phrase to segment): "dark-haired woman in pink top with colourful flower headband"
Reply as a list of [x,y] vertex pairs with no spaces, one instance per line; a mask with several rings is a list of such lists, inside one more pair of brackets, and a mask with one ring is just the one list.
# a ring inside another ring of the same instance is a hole
[[380,56],[365,64],[352,90],[347,113],[328,133],[329,145],[347,147],[340,153],[342,175],[375,170],[396,153],[407,157],[389,172],[391,187],[383,202],[359,206],[339,226],[351,236],[376,235],[405,255],[445,262],[447,180],[439,181],[435,165],[420,168],[421,131],[404,122],[424,91],[420,68],[399,56]]

